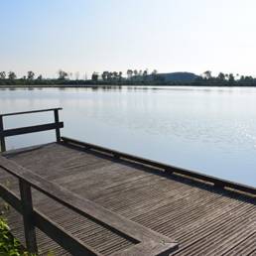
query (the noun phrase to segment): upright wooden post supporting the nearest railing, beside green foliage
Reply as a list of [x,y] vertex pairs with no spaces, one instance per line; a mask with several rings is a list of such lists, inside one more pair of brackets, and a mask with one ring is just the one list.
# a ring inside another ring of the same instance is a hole
[[30,253],[38,253],[36,229],[34,225],[33,202],[31,186],[24,180],[19,180],[21,203],[23,211],[26,246]]

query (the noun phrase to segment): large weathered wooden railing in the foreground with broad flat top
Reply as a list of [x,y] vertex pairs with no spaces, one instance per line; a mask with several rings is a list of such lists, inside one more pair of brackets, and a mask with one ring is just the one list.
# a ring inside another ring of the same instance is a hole
[[63,204],[65,207],[84,216],[96,224],[104,226],[111,232],[131,241],[134,246],[114,255],[169,255],[178,248],[174,240],[146,228],[136,222],[126,219],[91,200],[65,190],[41,176],[21,167],[15,162],[0,156],[0,169],[13,175],[19,180],[20,198],[4,185],[0,184],[1,197],[23,215],[27,249],[31,253],[38,252],[35,228],[38,227],[50,238],[59,243],[72,255],[101,255],[89,245],[64,230],[55,221],[49,219],[33,207],[32,190],[43,192],[47,196]]

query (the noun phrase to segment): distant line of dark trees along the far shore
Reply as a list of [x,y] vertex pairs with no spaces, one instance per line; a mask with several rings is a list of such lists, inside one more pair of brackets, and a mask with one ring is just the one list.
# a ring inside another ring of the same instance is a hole
[[[199,85],[199,86],[256,86],[256,79],[248,75],[219,72],[213,76],[207,70],[201,75],[193,75],[191,79],[167,79],[167,73],[158,73],[155,69],[149,73],[145,70],[128,69],[126,77],[121,71],[93,72],[90,79],[79,78],[79,73],[74,74],[60,69],[58,78],[43,77],[42,74],[36,76],[33,71],[28,71],[27,75],[17,77],[16,73],[0,71],[0,85]],[[172,73],[170,73],[172,74]],[[183,77],[183,73],[180,74]],[[180,77],[179,76],[179,77]]]

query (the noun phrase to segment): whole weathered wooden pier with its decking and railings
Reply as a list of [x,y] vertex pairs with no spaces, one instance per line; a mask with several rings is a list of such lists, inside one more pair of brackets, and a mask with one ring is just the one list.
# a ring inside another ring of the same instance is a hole
[[[14,236],[40,255],[256,255],[256,189],[61,137],[0,155]],[[185,159],[186,161],[186,159]]]

